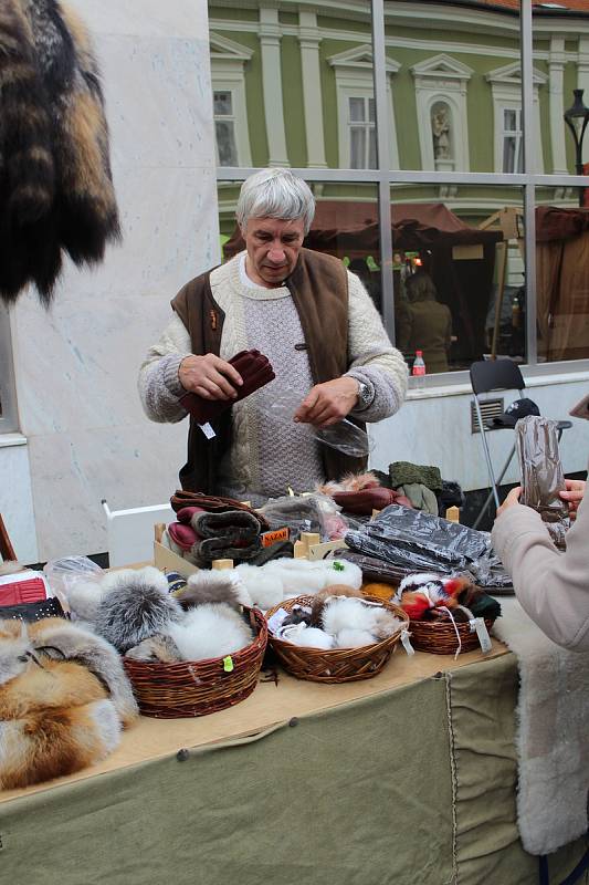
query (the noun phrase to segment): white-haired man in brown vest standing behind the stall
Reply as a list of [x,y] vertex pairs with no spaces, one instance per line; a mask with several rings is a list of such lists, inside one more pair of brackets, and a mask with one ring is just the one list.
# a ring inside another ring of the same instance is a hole
[[[332,256],[303,248],[315,214],[308,186],[287,169],[262,169],[241,188],[236,219],[245,250],[191,280],[139,373],[155,421],[179,421],[186,392],[232,402],[242,378],[228,362],[257,348],[275,379],[234,402],[208,439],[191,418],[182,488],[259,506],[358,471],[365,461],[320,445],[314,428],[378,421],[407,391],[404,361],[369,295]],[[294,420],[276,413],[294,403]]]

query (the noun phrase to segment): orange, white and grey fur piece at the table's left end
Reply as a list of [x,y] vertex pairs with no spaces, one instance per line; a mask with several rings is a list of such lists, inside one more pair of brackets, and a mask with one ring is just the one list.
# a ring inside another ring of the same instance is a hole
[[119,736],[101,679],[73,660],[38,656],[24,624],[0,621],[0,790],[80,771]]

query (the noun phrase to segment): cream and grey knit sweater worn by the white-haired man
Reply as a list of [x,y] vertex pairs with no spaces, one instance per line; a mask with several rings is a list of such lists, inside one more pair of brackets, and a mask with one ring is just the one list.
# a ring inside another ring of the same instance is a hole
[[[286,287],[265,289],[244,272],[244,252],[212,271],[212,295],[225,314],[220,355],[257,347],[275,381],[232,407],[232,447],[219,466],[218,493],[254,504],[284,494],[287,486],[306,491],[323,481],[319,444],[313,428],[295,424],[292,414],[313,386],[303,330]],[[407,366],[392,347],[376,308],[358,277],[348,272],[349,368],[346,374],[374,387],[371,405],[354,414],[378,421],[397,412],[407,391]],[[328,325],[328,319],[326,319]],[[155,421],[178,421],[186,410],[178,378],[181,361],[190,355],[190,336],[175,315],[139,372],[139,395]]]

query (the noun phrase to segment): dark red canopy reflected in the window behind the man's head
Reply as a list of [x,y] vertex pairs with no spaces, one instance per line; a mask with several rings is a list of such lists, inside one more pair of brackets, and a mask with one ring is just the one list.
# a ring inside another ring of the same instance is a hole
[[[493,244],[501,231],[480,230],[465,225],[441,202],[396,202],[391,205],[395,249],[419,251],[448,246]],[[305,246],[338,258],[362,258],[379,252],[378,205],[347,200],[319,200]],[[239,228],[223,246],[227,259],[245,248]]]

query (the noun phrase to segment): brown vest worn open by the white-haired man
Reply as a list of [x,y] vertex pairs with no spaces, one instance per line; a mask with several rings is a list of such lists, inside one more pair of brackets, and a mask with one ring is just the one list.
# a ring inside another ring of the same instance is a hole
[[[209,278],[210,271],[196,277],[180,290],[171,305],[190,335],[192,353],[219,355],[225,314],[212,296]],[[339,378],[348,368],[345,267],[332,256],[302,249],[286,285],[301,319],[314,383]],[[180,470],[182,489],[215,493],[217,466],[231,444],[231,409],[213,424],[213,429],[215,437],[207,439],[190,419],[188,461]],[[365,458],[353,458],[325,445],[322,458],[326,479],[365,470],[367,464]],[[287,481],[285,475],[285,483]]]

